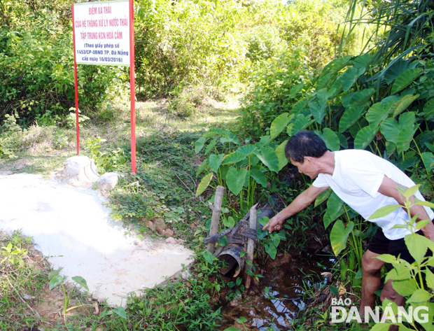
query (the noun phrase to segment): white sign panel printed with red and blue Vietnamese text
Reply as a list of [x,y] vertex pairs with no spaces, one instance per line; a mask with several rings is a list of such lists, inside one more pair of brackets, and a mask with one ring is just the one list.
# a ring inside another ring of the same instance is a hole
[[130,65],[130,3],[74,3],[77,64]]

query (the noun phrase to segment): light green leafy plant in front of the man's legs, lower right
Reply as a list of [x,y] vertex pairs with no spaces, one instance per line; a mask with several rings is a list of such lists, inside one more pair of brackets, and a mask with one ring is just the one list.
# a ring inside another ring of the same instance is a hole
[[[389,254],[382,254],[378,259],[386,263],[391,263],[393,266],[393,269],[391,269],[391,271],[386,275],[385,281],[388,281],[389,279],[393,280],[392,286],[396,292],[406,297],[405,306],[407,309],[405,309],[405,311],[408,312],[411,309],[414,314],[416,314],[416,311],[420,311],[418,320],[423,330],[433,330],[434,303],[430,302],[430,300],[434,296],[434,274],[430,271],[430,267],[434,267],[434,258],[432,256],[434,252],[434,242],[423,237],[423,235],[415,233],[416,231],[421,230],[431,220],[419,220],[419,222],[414,225],[416,218],[419,215],[412,217],[410,209],[414,205],[434,208],[434,204],[431,202],[420,201],[416,198],[411,199],[419,188],[420,185],[414,185],[412,188],[398,186],[397,189],[406,199],[404,206],[401,206],[400,204],[384,206],[375,211],[369,219],[374,220],[376,218],[384,217],[398,208],[403,208],[407,211],[409,218],[407,224],[395,225],[394,228],[404,227],[412,232],[412,234],[407,234],[404,240],[409,253],[415,261],[410,264],[402,258],[396,258]],[[430,253],[428,253],[427,256],[428,250]],[[386,310],[386,307],[390,307],[388,308],[388,311]],[[407,318],[405,315],[402,315],[402,321],[405,320],[405,324],[395,318],[395,316],[398,315],[398,309],[400,308],[398,308],[394,302],[384,300],[383,309],[384,314],[388,314],[391,323],[399,325],[400,330],[420,330],[414,321],[416,318],[412,318],[414,316]],[[428,318],[423,318],[421,315],[422,313],[427,313]],[[389,325],[389,323],[377,323],[374,325],[372,330],[388,330]]]

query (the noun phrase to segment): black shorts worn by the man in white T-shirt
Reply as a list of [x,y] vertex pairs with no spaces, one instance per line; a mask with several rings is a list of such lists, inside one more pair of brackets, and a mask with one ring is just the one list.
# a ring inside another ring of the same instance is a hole
[[[416,234],[423,236],[423,232],[421,230],[416,232]],[[369,246],[367,246],[367,249],[373,253],[390,254],[396,256],[397,258],[398,255],[400,255],[401,259],[406,260],[410,264],[414,262],[414,258],[409,253],[407,246],[405,245],[404,238],[396,240],[387,239],[386,236],[384,236],[381,227],[379,227],[377,232],[375,232]],[[388,269],[391,269],[391,265],[388,265]]]

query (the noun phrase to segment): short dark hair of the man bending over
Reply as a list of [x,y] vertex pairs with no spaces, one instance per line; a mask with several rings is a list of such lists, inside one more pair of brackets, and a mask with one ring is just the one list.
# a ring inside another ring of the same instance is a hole
[[295,162],[304,163],[305,156],[321,157],[327,152],[323,139],[308,130],[302,130],[290,137],[285,146],[285,155]]

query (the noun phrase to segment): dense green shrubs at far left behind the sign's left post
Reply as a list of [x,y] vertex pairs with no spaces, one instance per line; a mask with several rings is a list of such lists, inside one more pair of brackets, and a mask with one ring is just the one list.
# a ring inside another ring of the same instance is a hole
[[[13,8],[13,7],[10,7]],[[0,118],[19,116],[20,125],[62,122],[75,105],[71,29],[65,30],[52,8],[18,7],[28,17],[14,16],[0,29]],[[2,12],[3,13],[3,12]],[[80,108],[87,115],[104,103],[121,69],[78,66]]]

